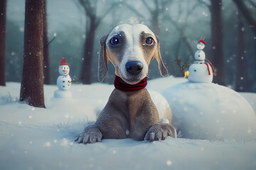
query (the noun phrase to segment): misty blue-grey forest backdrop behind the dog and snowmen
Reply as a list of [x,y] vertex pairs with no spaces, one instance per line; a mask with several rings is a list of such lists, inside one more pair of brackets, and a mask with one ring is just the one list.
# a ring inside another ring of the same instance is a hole
[[[46,84],[55,84],[63,57],[70,66],[70,77],[86,77],[83,84],[97,82],[100,36],[122,23],[143,23],[159,35],[161,56],[169,69],[169,75],[183,76],[174,60],[181,58],[181,62],[193,61],[196,44],[203,35],[207,42],[204,49],[206,58],[217,68],[218,76],[214,81],[236,91],[256,92],[255,0],[220,1],[220,13],[215,11],[214,2],[218,1],[214,0],[46,2],[48,41],[55,38],[48,45],[50,65],[45,67],[49,68],[50,74],[48,77],[45,75],[45,79],[49,80]],[[238,5],[241,2],[245,6]],[[88,8],[90,10],[86,11]],[[219,15],[221,22],[218,21]],[[6,81],[21,81],[24,18],[25,0],[7,0]],[[93,21],[95,18],[99,21],[98,25]],[[94,31],[95,36],[91,36]],[[85,41],[90,43],[86,44]],[[93,48],[92,62],[87,60],[90,55],[88,44]],[[109,68],[105,83],[112,84],[114,67],[109,64]],[[149,79],[160,77],[156,61],[151,63],[150,69]]]

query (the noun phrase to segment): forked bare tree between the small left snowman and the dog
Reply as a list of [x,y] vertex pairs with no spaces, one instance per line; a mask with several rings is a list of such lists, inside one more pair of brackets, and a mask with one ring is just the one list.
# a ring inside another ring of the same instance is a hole
[[92,70],[92,56],[93,56],[93,47],[95,40],[95,31],[99,26],[107,13],[109,13],[113,6],[110,4],[110,7],[103,12],[102,16],[97,15],[97,0],[79,0],[80,6],[85,11],[86,17],[86,29],[85,29],[85,43],[84,43],[84,52],[82,57],[82,69],[80,72],[80,79],[82,80],[82,84],[90,84],[91,83],[91,70]]

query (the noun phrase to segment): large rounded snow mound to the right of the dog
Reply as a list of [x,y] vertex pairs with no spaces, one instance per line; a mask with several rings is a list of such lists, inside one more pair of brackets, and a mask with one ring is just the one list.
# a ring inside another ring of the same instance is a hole
[[250,103],[232,89],[213,83],[185,82],[169,87],[162,94],[173,111],[173,124],[183,137],[256,139],[255,112]]

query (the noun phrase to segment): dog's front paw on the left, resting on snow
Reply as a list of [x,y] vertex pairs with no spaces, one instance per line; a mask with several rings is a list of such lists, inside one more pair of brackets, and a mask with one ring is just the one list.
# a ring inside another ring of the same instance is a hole
[[102,139],[102,132],[98,128],[95,128],[94,125],[88,125],[85,130],[81,132],[75,142],[78,143],[95,143],[100,142]]

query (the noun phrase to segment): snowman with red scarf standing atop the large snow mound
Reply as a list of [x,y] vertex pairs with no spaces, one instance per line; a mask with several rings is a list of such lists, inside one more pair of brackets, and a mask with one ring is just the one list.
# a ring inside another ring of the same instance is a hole
[[[204,38],[203,38],[204,39]],[[195,61],[188,68],[188,80],[196,83],[210,83],[213,81],[213,75],[215,71],[213,65],[210,62],[205,62],[206,54],[203,52],[203,48],[206,45],[206,41],[199,40],[196,45],[197,51],[195,53]]]

